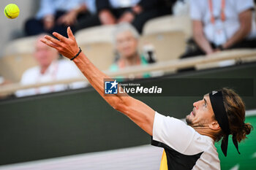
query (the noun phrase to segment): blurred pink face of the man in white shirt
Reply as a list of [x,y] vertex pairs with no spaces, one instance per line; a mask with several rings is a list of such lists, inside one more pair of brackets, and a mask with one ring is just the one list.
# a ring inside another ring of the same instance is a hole
[[48,67],[50,63],[58,58],[58,52],[37,39],[34,57],[41,67]]

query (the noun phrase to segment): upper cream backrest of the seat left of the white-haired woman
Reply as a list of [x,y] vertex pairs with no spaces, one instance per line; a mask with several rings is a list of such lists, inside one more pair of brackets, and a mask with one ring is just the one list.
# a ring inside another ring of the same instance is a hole
[[95,26],[75,34],[78,45],[91,42],[112,42],[115,26]]

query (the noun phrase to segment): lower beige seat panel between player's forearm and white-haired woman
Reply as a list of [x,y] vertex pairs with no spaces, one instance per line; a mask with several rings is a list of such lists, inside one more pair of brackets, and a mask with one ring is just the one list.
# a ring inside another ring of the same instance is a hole
[[113,44],[111,42],[83,43],[80,47],[100,70],[108,70],[113,63]]

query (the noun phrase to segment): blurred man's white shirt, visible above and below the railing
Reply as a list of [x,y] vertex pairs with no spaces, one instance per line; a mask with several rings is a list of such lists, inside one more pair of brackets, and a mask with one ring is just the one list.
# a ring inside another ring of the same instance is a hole
[[[56,80],[67,80],[72,78],[81,77],[81,73],[74,63],[61,60],[53,61],[45,74],[40,73],[40,67],[35,66],[31,69],[26,70],[23,73],[20,84],[21,85],[34,85],[40,82],[51,82]],[[50,85],[43,86],[41,88],[30,88],[26,90],[18,90],[15,95],[18,97],[31,96],[42,93],[51,93],[61,90],[67,90],[68,88],[84,88],[88,85],[87,82],[74,82],[71,85]]]

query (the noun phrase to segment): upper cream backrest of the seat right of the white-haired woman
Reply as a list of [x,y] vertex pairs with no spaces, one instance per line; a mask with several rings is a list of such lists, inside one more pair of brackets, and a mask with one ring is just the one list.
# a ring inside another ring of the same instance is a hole
[[192,23],[189,16],[166,15],[148,20],[143,27],[143,35],[165,31],[184,31],[186,39],[192,36]]

